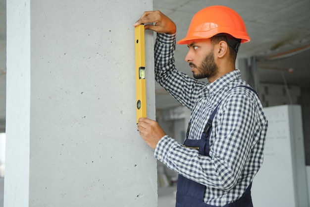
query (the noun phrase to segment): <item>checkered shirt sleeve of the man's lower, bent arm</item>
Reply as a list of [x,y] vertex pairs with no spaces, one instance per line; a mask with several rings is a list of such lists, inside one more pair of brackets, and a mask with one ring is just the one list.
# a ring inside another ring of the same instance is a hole
[[[210,156],[199,155],[198,150],[185,148],[164,136],[157,143],[155,157],[188,179],[228,191],[236,185],[252,149],[262,152],[263,146],[254,147],[259,138],[255,133],[260,132],[262,126],[255,103],[244,94],[232,95],[223,101],[216,117],[211,134],[216,138],[210,147]],[[261,162],[259,157],[249,172],[255,174]]]

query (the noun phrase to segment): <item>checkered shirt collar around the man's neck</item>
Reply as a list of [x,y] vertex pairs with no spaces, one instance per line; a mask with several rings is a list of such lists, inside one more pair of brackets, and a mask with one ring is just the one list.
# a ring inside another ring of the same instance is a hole
[[207,89],[209,90],[209,94],[216,94],[219,91],[223,90],[225,86],[227,86],[233,80],[241,79],[240,70],[236,69],[231,72],[226,73],[225,75],[217,78],[214,82],[207,84]]

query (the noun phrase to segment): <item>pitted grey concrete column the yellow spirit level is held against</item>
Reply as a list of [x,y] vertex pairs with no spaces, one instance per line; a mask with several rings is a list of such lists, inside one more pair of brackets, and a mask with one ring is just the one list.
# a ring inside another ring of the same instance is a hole
[[[157,207],[133,23],[152,0],[7,0],[4,207]],[[153,32],[146,32],[155,119]]]

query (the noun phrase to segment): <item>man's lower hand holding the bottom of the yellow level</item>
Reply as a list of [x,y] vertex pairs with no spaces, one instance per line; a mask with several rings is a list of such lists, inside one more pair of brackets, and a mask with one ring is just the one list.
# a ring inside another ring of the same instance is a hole
[[159,139],[166,135],[156,121],[148,118],[140,118],[137,127],[141,137],[153,149],[156,148]]

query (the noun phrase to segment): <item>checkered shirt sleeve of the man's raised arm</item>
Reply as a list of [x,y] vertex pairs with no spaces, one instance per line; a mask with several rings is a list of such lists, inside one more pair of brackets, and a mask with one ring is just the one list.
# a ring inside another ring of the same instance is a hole
[[157,33],[155,41],[155,79],[178,102],[189,109],[205,83],[179,72],[174,66],[176,35]]

